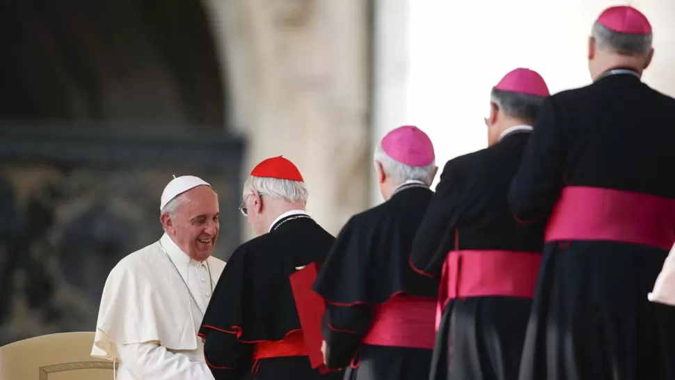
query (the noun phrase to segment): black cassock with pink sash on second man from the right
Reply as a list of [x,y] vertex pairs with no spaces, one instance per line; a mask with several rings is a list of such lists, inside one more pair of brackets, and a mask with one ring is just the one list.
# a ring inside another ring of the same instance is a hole
[[490,148],[448,161],[415,236],[413,269],[442,275],[431,380],[518,377],[543,223],[516,223],[507,193],[529,138],[514,128]]

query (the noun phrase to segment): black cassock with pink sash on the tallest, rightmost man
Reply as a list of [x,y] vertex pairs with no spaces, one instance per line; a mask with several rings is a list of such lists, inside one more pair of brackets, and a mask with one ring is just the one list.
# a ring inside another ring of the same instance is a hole
[[509,203],[549,219],[521,380],[675,379],[675,100],[619,70],[543,105]]

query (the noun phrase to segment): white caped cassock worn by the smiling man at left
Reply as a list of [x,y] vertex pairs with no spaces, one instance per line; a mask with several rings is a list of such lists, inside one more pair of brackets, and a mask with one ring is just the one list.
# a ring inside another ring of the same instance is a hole
[[119,361],[118,380],[213,380],[197,331],[224,268],[191,260],[166,234],[123,258],[103,289],[91,355]]

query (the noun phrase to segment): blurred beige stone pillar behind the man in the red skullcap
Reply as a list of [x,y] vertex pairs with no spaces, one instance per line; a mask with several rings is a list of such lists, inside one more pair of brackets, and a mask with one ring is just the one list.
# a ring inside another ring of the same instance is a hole
[[246,169],[275,155],[294,161],[308,211],[337,233],[367,207],[367,2],[202,1],[219,41],[230,121],[248,137]]

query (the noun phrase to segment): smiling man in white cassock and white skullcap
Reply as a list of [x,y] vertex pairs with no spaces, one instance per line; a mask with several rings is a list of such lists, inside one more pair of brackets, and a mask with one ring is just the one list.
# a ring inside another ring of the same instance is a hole
[[225,268],[211,256],[218,196],[185,175],[166,185],[159,209],[164,235],[106,280],[91,355],[119,362],[119,380],[212,380],[197,331]]

